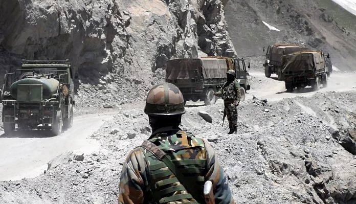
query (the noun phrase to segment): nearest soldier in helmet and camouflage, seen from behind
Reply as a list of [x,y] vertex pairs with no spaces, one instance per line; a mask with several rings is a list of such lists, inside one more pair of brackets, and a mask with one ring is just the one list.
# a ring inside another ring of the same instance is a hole
[[215,203],[234,203],[212,147],[179,128],[185,114],[179,88],[153,86],[144,111],[152,135],[127,156],[118,203],[205,203],[207,180],[213,184]]

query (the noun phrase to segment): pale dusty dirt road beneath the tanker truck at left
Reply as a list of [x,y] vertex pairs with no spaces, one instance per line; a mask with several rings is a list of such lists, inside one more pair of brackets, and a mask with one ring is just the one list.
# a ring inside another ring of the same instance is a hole
[[100,144],[88,137],[100,128],[110,115],[84,115],[74,119],[74,126],[58,137],[44,131],[0,132],[0,180],[35,177],[47,169],[47,163],[66,151],[84,154],[98,151]]

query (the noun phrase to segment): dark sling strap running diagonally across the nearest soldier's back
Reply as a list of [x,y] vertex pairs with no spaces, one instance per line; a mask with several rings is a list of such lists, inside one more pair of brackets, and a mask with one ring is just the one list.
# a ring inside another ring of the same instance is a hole
[[189,194],[193,196],[195,200],[198,197],[201,197],[203,195],[203,192],[201,193],[202,195],[200,196],[199,192],[196,191],[196,188],[193,188],[190,180],[187,180],[186,177],[180,172],[177,171],[176,166],[174,163],[167,157],[166,152],[161,150],[159,147],[157,147],[155,144],[152,142],[145,140],[141,147],[145,148],[146,150],[150,151],[154,156],[156,156],[161,162],[163,162],[168,169],[175,175],[175,177],[179,180],[179,182],[184,186],[184,188],[188,191]]

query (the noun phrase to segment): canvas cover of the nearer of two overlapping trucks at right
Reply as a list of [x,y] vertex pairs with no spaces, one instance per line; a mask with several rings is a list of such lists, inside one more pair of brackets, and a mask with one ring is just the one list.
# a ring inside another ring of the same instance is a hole
[[325,62],[318,52],[300,52],[282,56],[283,73],[317,71],[325,69]]

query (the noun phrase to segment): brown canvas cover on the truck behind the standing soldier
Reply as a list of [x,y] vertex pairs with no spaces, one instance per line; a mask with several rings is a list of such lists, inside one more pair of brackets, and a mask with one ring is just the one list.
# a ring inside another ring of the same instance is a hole
[[167,61],[166,79],[193,79],[201,75],[205,79],[226,78],[227,70],[225,59],[173,59]]

